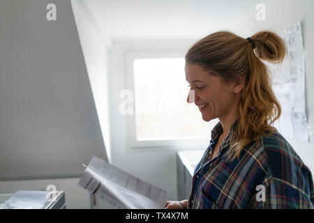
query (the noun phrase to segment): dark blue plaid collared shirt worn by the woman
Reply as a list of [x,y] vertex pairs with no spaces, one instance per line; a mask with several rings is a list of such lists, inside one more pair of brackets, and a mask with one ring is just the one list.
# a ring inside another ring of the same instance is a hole
[[278,132],[260,137],[260,146],[252,141],[239,159],[226,160],[236,126],[237,121],[214,159],[223,128],[218,123],[211,131],[209,147],[195,168],[188,208],[314,208],[311,171]]

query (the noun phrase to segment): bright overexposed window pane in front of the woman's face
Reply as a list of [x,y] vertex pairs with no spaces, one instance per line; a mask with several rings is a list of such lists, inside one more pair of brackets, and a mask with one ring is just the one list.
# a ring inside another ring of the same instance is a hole
[[210,136],[199,109],[186,102],[184,63],[183,58],[133,61],[137,140]]

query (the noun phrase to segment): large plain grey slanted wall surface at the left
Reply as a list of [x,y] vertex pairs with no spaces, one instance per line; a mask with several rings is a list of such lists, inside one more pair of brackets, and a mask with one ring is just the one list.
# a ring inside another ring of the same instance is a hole
[[107,156],[70,1],[0,5],[0,180],[80,176]]

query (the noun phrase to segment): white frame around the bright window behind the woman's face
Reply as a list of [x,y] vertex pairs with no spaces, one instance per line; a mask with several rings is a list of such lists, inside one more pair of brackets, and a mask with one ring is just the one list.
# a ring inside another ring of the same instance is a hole
[[[133,92],[133,111],[134,114],[126,114],[128,130],[128,146],[130,148],[175,148],[175,149],[204,149],[207,148],[210,141],[210,130],[208,137],[191,137],[187,139],[160,139],[160,140],[137,140],[135,125],[135,89],[134,89],[134,69],[133,61],[135,59],[157,59],[157,58],[184,58],[185,50],[173,51],[128,51],[125,52],[126,61],[126,88]],[[188,92],[186,93],[186,96]]]

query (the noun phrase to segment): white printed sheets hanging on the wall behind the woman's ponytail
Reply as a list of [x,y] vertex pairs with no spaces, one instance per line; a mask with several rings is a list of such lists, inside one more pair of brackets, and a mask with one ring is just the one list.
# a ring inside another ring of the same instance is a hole
[[309,141],[301,23],[281,29],[278,35],[285,40],[288,54],[281,64],[266,62],[271,71],[274,93],[282,109],[281,118],[274,126],[285,137]]

